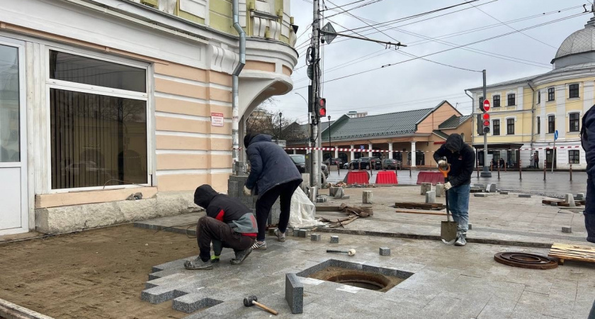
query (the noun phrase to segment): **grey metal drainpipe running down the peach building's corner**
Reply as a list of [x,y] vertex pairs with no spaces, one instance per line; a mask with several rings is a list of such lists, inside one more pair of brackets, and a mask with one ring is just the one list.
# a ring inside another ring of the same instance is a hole
[[232,74],[232,159],[234,170],[236,169],[235,163],[239,161],[239,73],[242,72],[244,65],[246,65],[246,33],[242,26],[239,25],[238,2],[239,0],[233,0],[232,2],[234,28],[239,33],[239,63]]

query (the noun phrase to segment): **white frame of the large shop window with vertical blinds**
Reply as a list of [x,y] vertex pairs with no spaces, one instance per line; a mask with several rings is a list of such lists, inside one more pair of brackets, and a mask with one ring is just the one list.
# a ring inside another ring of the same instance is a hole
[[[75,82],[67,82],[57,79],[50,79],[50,50],[58,51],[58,52],[65,52],[72,55],[79,55],[81,57],[89,57],[91,59],[96,60],[103,60],[106,62],[117,63],[119,65],[127,65],[130,67],[137,67],[139,69],[144,69],[146,74],[146,82],[145,85],[147,86],[145,91],[146,93],[136,92],[136,91],[127,91],[122,89],[113,89],[108,88],[105,86],[95,86],[89,84],[81,84]],[[154,141],[153,141],[153,107],[152,107],[152,94],[151,90],[153,87],[153,72],[151,65],[143,62],[134,62],[131,60],[124,60],[120,57],[113,57],[111,55],[103,55],[96,52],[91,52],[88,50],[75,50],[69,47],[61,47],[57,45],[46,45],[45,51],[43,52],[43,62],[45,62],[45,94],[46,94],[46,101],[45,101],[45,116],[47,118],[47,125],[45,128],[46,131],[46,140],[47,143],[47,172],[45,175],[47,177],[47,193],[48,194],[60,194],[60,193],[69,193],[72,191],[92,191],[92,190],[101,190],[101,189],[123,189],[123,188],[139,188],[139,187],[149,187],[152,186],[152,176],[154,176]],[[145,183],[139,184],[124,184],[124,185],[109,185],[109,186],[91,186],[91,187],[77,187],[72,189],[52,189],[52,171],[49,169],[52,166],[52,152],[51,152],[51,125],[50,125],[50,89],[66,89],[69,91],[77,91],[82,93],[90,93],[90,94],[100,94],[105,96],[114,96],[114,97],[121,97],[125,99],[135,99],[140,101],[146,102],[146,116],[147,116],[147,180]]]

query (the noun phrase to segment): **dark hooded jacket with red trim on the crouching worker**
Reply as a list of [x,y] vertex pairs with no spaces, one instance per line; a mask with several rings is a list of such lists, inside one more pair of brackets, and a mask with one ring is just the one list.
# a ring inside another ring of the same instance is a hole
[[210,185],[202,185],[196,189],[194,203],[205,208],[207,216],[226,223],[236,233],[256,237],[259,232],[250,208],[237,199],[217,193]]

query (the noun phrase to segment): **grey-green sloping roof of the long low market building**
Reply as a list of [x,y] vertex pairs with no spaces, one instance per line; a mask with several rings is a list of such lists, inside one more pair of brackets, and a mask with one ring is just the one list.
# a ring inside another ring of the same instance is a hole
[[[363,118],[341,117],[331,126],[331,138],[348,140],[385,135],[404,135],[415,133],[416,124],[426,117],[434,108],[386,113]],[[324,130],[322,139],[329,138],[329,130]]]

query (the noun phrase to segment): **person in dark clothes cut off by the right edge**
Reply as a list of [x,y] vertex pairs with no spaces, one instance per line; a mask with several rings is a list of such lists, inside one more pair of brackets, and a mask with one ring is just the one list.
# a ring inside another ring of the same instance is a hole
[[595,106],[584,113],[581,128],[581,144],[587,159],[587,198],[584,205],[584,225],[587,240],[595,242]]

